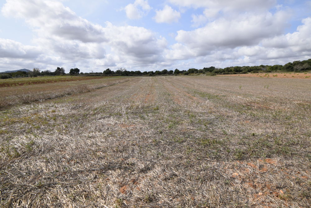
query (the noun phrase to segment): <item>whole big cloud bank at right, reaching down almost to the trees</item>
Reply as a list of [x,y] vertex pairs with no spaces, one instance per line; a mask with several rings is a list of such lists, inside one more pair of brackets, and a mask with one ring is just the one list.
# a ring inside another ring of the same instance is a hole
[[165,57],[188,59],[193,66],[209,63],[218,67],[309,59],[311,17],[303,19],[295,32],[283,34],[287,18],[284,11],[244,13],[232,20],[218,18],[193,31],[178,31],[179,43],[165,50]]

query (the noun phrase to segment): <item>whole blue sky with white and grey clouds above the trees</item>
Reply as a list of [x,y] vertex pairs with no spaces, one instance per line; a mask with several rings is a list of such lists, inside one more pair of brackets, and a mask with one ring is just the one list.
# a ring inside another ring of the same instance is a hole
[[311,1],[0,0],[0,72],[188,70],[311,58]]

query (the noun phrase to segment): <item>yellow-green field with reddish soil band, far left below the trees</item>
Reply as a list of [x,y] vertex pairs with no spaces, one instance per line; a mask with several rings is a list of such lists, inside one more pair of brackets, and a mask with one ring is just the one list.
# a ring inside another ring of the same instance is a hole
[[30,77],[14,78],[14,79],[0,80],[0,87],[23,86],[23,85],[56,83],[56,82],[72,82],[72,81],[101,79],[101,78],[107,78],[107,77],[46,76],[46,77],[34,77],[34,78],[30,78]]

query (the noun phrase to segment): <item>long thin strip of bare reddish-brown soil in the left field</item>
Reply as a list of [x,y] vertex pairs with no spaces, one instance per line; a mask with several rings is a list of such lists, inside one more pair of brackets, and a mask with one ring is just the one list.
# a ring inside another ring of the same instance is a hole
[[89,79],[101,79],[104,77],[79,77],[79,78],[60,78],[60,79],[42,79],[42,80],[27,80],[27,81],[20,81],[20,82],[6,82],[0,83],[0,87],[11,87],[11,86],[22,86],[22,85],[33,85],[33,84],[44,84],[44,83],[55,83],[55,82],[71,82],[71,81],[81,81],[81,80],[89,80]]

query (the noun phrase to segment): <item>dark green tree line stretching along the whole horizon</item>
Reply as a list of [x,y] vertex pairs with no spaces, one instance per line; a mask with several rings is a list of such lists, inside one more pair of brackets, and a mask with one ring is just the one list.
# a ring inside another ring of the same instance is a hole
[[[157,76],[157,75],[189,75],[189,74],[206,74],[206,75],[216,75],[216,74],[243,74],[243,73],[269,73],[269,72],[276,72],[276,71],[284,71],[284,72],[302,72],[302,71],[309,71],[311,70],[311,59],[304,60],[304,61],[294,61],[289,62],[284,65],[260,65],[260,66],[231,66],[226,67],[224,69],[216,68],[214,66],[211,67],[204,67],[203,69],[195,69],[191,68],[188,70],[167,70],[163,69],[162,71],[128,71],[125,68],[119,68],[116,71],[112,71],[111,69],[106,69],[103,72],[91,72],[91,73],[80,73],[80,69],[74,68],[70,69],[70,75],[91,75],[91,76]],[[55,71],[45,70],[41,71],[38,68],[34,68],[30,72],[24,71],[17,71],[14,73],[6,73],[0,74],[0,78],[12,78],[12,77],[22,77],[22,76],[44,76],[44,75],[64,75],[65,69],[63,67],[57,67]]]

